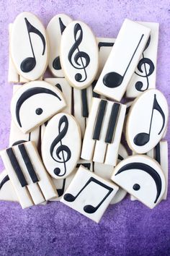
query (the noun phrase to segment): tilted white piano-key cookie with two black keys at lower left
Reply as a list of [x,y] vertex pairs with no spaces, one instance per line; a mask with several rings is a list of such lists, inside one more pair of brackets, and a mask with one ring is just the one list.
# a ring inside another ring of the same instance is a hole
[[1,158],[22,208],[58,196],[32,142],[1,151]]

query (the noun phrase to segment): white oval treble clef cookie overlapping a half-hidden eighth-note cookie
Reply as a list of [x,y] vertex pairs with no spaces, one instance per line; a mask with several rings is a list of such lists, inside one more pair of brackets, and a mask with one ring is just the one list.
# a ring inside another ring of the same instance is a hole
[[87,88],[94,81],[99,65],[97,40],[91,29],[73,21],[61,37],[61,67],[71,86]]

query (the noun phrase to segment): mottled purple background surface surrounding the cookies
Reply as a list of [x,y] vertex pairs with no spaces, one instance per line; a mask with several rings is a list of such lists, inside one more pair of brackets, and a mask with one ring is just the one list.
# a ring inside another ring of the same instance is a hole
[[[86,22],[97,36],[113,38],[125,17],[159,22],[156,84],[169,101],[169,0],[1,0],[0,10],[0,149],[8,145],[12,97],[7,82],[8,24],[19,12],[37,14],[44,25],[55,14],[66,13]],[[0,167],[4,168],[2,163]],[[169,226],[170,195],[153,210],[127,198],[109,206],[98,225],[60,202],[26,210],[17,203],[0,202],[0,255],[168,255]]]

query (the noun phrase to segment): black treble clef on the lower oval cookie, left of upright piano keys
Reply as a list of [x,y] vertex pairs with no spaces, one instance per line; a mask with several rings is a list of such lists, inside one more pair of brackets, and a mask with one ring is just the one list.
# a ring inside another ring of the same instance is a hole
[[[62,144],[62,139],[63,137],[65,137],[67,131],[68,131],[68,119],[66,116],[62,116],[58,124],[58,136],[55,138],[55,140],[53,140],[50,146],[50,155],[53,158],[53,160],[57,163],[63,163],[64,165],[63,174],[60,174],[61,173],[60,168],[57,167],[54,169],[54,174],[57,176],[63,176],[66,174],[66,162],[71,158],[71,150],[68,148],[68,146]],[[59,159],[58,160],[53,157],[53,150],[59,142],[61,145],[59,145],[59,147],[55,150],[55,155]],[[62,157],[60,156],[61,153],[62,153]]]

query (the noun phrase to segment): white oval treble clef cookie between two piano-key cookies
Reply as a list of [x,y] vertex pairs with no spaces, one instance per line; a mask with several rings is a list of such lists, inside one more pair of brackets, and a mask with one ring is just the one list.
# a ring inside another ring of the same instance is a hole
[[42,138],[42,160],[49,174],[63,179],[74,170],[81,151],[81,132],[73,116],[53,116]]

